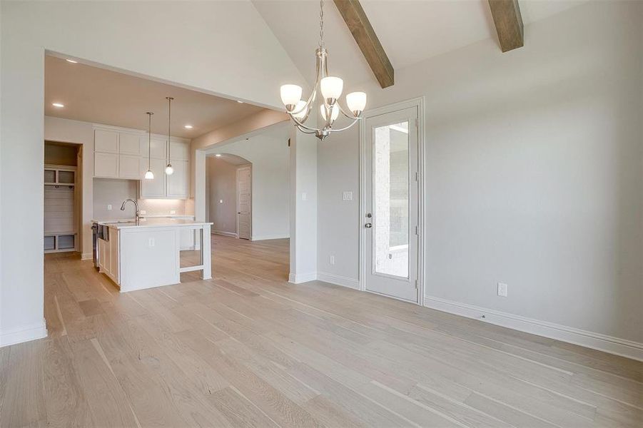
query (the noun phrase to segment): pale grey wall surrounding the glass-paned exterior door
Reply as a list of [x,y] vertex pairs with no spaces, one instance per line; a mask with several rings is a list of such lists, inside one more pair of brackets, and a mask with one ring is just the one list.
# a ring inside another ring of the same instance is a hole
[[[369,108],[425,97],[427,297],[643,342],[642,21],[641,2],[589,2],[525,26],[524,48],[363,85]],[[357,278],[358,132],[318,162],[320,271]]]

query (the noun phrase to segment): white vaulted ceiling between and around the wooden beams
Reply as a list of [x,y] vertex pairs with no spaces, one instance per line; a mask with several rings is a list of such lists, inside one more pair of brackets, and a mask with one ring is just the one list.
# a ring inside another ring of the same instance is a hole
[[[587,0],[519,0],[527,24],[558,14]],[[280,44],[312,84],[319,39],[319,2],[254,0]],[[476,41],[497,39],[487,0],[361,0],[395,69],[424,61]],[[325,44],[331,73],[345,86],[373,79],[360,49],[332,0],[325,1]],[[525,36],[528,40],[528,35]]]

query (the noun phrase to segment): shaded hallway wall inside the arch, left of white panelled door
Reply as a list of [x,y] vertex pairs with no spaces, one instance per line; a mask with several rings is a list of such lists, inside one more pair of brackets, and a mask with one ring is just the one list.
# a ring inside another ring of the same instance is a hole
[[236,183],[237,168],[215,157],[208,158],[206,188],[208,195],[208,221],[214,223],[212,231],[237,233]]

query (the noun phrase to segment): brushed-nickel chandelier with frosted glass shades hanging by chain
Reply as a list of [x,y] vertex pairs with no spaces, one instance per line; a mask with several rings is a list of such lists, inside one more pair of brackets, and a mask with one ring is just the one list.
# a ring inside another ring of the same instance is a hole
[[[315,134],[317,138],[323,140],[328,137],[330,133],[345,131],[351,126],[355,125],[361,118],[361,114],[366,106],[366,93],[364,92],[351,92],[346,95],[346,106],[348,112],[340,106],[339,98],[342,95],[344,81],[335,76],[328,75],[328,51],[324,46],[324,1],[320,1],[319,12],[319,47],[315,51],[317,57],[317,77],[315,78],[315,86],[313,92],[310,93],[308,100],[301,99],[302,88],[298,85],[283,85],[281,86],[281,101],[285,106],[286,113],[293,119],[295,126],[303,132],[308,134]],[[323,103],[320,103],[320,114],[325,121],[323,127],[312,128],[306,126],[305,122],[308,120],[310,113],[314,110],[315,100],[318,92],[323,97]],[[351,122],[348,126],[343,128],[333,129],[335,120],[339,117],[340,113],[348,118]]]

